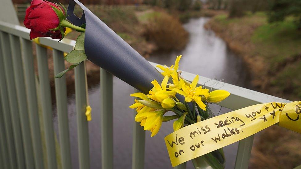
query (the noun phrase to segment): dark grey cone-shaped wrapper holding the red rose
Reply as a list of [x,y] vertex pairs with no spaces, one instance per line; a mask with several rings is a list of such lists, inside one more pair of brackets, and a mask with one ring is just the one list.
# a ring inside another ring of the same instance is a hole
[[[81,18],[73,13],[75,3],[84,10]],[[86,24],[85,53],[91,62],[146,94],[151,81],[163,80],[158,70],[78,0],[69,1],[67,14],[74,25]]]

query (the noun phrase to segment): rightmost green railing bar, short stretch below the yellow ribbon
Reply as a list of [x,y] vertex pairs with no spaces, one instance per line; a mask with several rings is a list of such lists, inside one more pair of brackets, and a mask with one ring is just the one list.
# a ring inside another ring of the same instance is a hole
[[237,155],[236,155],[235,169],[248,168],[253,140],[254,140],[254,135],[251,135],[239,141]]

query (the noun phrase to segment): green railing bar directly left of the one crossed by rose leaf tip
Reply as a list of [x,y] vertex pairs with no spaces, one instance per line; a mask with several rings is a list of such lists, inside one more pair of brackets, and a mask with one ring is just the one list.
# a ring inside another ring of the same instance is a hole
[[43,124],[45,131],[46,151],[47,151],[47,166],[48,169],[55,169],[56,163],[56,147],[54,142],[54,131],[52,122],[52,103],[48,72],[48,57],[46,48],[36,45],[39,82],[40,82],[40,99],[43,111]]

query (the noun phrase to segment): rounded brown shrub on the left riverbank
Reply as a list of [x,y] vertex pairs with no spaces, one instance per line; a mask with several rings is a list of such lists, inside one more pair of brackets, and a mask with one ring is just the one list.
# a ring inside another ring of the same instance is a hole
[[188,32],[178,18],[160,13],[149,19],[145,30],[146,38],[161,50],[180,50],[186,46]]

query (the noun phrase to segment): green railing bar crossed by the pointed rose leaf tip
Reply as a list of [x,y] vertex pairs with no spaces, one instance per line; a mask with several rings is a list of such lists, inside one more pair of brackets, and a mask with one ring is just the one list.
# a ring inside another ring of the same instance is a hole
[[[64,53],[59,50],[53,50],[54,74],[58,74],[65,70]],[[56,107],[59,121],[60,150],[62,158],[62,167],[71,169],[70,139],[69,139],[69,123],[67,111],[67,89],[66,76],[55,78],[56,88]]]

